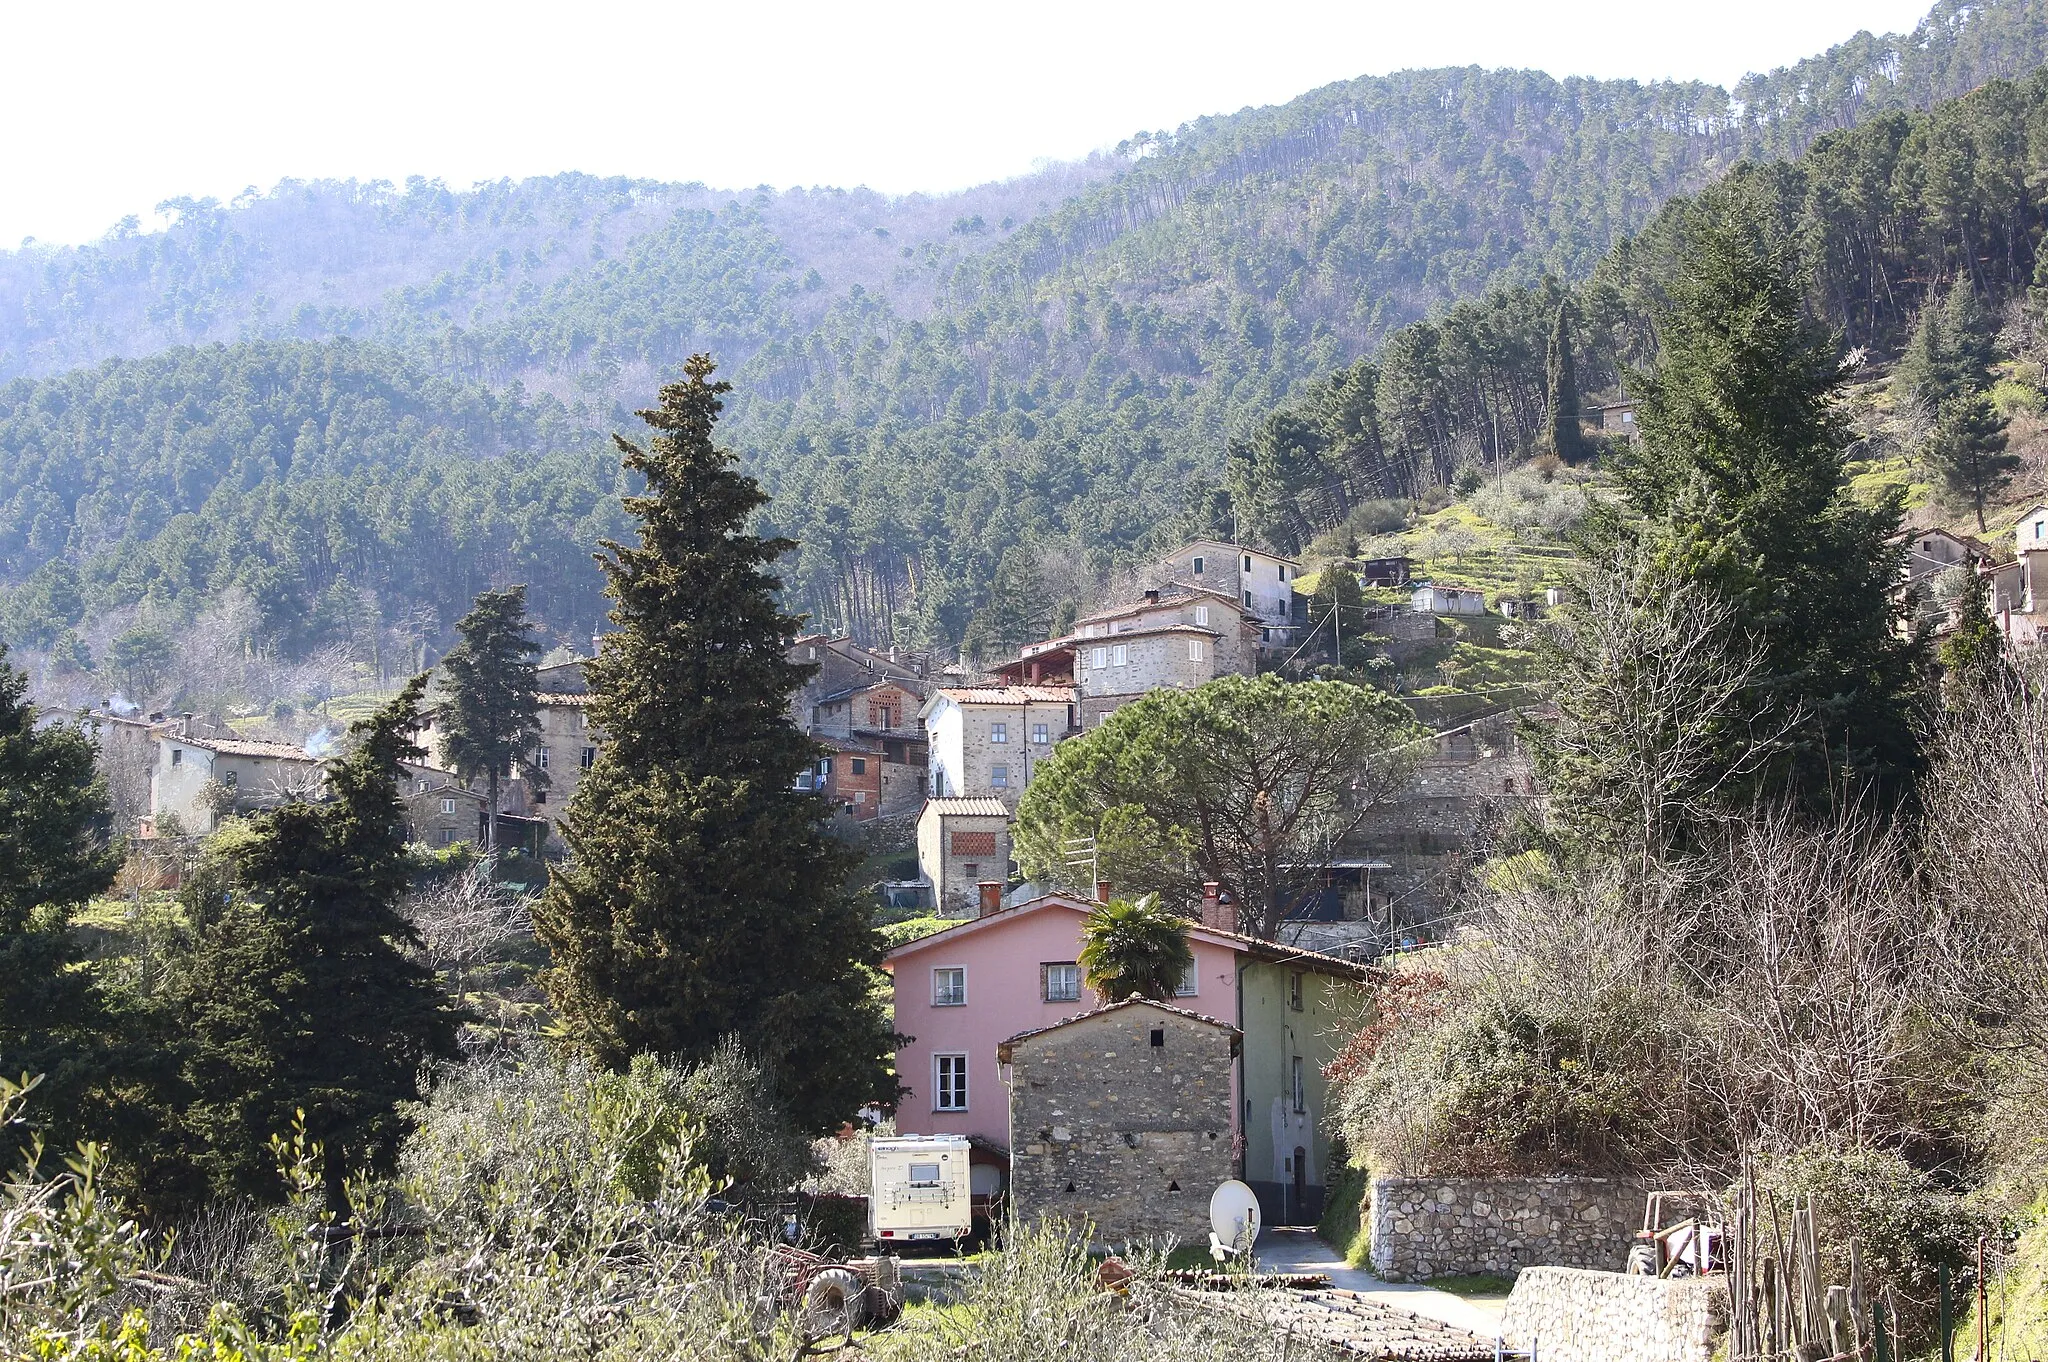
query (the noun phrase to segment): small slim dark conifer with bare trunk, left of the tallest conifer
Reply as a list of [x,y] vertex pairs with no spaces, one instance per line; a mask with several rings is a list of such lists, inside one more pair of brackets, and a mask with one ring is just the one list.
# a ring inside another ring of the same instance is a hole
[[461,637],[440,659],[446,698],[434,707],[442,752],[467,784],[485,782],[483,842],[498,846],[498,786],[518,762],[526,784],[547,789],[535,760],[541,746],[535,657],[541,643],[526,623],[526,588],[481,592],[457,625]]

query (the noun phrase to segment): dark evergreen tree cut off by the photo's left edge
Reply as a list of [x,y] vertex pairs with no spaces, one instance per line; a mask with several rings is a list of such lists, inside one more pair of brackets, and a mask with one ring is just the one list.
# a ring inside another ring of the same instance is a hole
[[78,1116],[104,1059],[70,913],[113,883],[119,856],[90,739],[37,729],[27,694],[0,647],[0,1075],[41,1075],[29,1114],[61,1147],[88,1133]]

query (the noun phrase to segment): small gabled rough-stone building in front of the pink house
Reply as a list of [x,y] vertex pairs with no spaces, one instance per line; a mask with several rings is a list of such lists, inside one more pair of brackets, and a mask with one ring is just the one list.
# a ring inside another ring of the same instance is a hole
[[1010,1202],[1094,1239],[1204,1243],[1208,1194],[1235,1174],[1239,1032],[1128,997],[1010,1036]]

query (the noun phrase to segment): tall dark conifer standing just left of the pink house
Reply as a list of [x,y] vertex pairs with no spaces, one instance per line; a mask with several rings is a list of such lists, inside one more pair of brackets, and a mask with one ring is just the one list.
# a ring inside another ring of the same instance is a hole
[[641,412],[647,481],[629,498],[639,545],[604,543],[612,623],[588,668],[604,729],[561,832],[573,858],[535,926],[563,1028],[623,1065],[707,1059],[737,1036],[778,1067],[801,1126],[825,1131],[891,1100],[889,1020],[872,985],[879,938],[842,889],[852,856],[795,789],[815,746],[788,721],[811,668],[788,662],[799,621],[766,569],[793,549],[745,530],[760,485],[713,444],[727,383],[690,356]]

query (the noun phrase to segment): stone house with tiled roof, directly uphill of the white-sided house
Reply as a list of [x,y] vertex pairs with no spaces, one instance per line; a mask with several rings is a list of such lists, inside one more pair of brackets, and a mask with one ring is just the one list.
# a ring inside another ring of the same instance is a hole
[[1206,588],[1149,590],[1133,604],[1075,621],[1081,727],[1102,723],[1147,690],[1192,690],[1219,676],[1251,676],[1262,633],[1235,598]]

